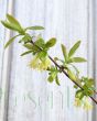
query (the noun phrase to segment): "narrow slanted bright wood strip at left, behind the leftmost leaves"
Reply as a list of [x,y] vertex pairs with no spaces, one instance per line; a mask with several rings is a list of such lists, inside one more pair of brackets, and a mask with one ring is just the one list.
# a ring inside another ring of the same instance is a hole
[[[3,4],[4,3],[4,4]],[[13,2],[12,0],[9,1],[4,1],[2,2],[2,4],[0,4],[3,8],[3,15],[8,13],[12,13],[12,6]],[[4,18],[3,18],[4,19]],[[3,31],[2,31],[3,32]],[[10,31],[4,31],[4,33],[2,34],[3,41],[2,42],[7,42],[10,36],[11,36],[11,32]],[[8,51],[4,52],[4,46],[2,44],[2,68],[1,70],[1,89],[2,89],[2,97],[1,97],[1,107],[0,107],[0,120],[1,121],[7,121],[8,120],[8,102],[9,102],[9,75],[10,75],[10,62],[11,62],[11,56],[10,56],[10,47]]]

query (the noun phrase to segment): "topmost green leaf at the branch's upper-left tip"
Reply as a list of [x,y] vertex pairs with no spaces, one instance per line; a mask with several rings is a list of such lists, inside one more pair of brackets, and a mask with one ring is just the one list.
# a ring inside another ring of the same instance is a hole
[[17,19],[14,19],[12,15],[7,14],[7,19],[9,20],[9,22],[13,25],[15,25],[19,30],[22,30],[20,23],[18,22]]

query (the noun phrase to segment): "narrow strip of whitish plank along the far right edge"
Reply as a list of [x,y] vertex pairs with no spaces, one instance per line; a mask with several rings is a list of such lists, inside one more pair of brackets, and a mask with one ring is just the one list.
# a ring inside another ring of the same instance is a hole
[[[93,76],[95,78],[95,85],[96,85],[96,89],[97,89],[97,1],[94,0],[93,1]],[[95,98],[97,99],[97,96],[95,96]],[[97,105],[94,103],[94,110],[93,110],[93,119],[94,121],[97,120]]]

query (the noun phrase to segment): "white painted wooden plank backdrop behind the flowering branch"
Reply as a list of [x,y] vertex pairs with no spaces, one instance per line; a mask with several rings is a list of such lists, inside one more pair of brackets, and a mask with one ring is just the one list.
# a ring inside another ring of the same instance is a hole
[[[96,4],[96,0],[1,0],[0,19],[9,12],[24,26],[45,26],[45,40],[57,38],[52,56],[62,57],[61,43],[69,48],[82,40],[77,55],[88,63],[78,68],[82,75],[97,78]],[[0,24],[0,87],[6,91],[0,100],[0,121],[97,121],[96,108],[86,112],[74,107],[73,84],[64,75],[60,87],[48,84],[46,73],[28,67],[31,56],[20,57],[24,48],[17,41],[4,52],[3,43],[11,35]]]

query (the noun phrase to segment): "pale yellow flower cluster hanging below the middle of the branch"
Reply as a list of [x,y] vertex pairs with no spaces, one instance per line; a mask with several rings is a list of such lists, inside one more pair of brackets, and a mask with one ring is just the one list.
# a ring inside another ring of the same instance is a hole
[[30,67],[39,70],[46,70],[51,66],[51,61],[48,57],[41,61],[37,56],[30,62]]

